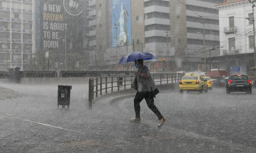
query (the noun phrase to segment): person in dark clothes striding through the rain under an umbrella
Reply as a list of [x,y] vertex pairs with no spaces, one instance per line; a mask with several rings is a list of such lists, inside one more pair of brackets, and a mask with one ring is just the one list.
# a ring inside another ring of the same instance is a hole
[[157,124],[158,127],[161,127],[166,119],[154,105],[154,96],[152,91],[155,89],[155,84],[151,78],[150,71],[147,66],[143,65],[143,59],[134,61],[134,66],[138,68],[138,71],[136,72],[136,77],[132,86],[135,90],[137,90],[137,93],[134,98],[135,117],[130,119],[130,122],[140,123],[140,102],[145,99],[148,108],[150,108],[151,111],[157,115],[159,120],[159,123]]

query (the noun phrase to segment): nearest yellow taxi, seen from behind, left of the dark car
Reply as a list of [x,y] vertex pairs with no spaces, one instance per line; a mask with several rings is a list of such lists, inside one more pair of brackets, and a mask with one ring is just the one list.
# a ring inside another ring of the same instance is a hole
[[180,80],[179,88],[180,93],[183,93],[183,91],[199,91],[200,93],[203,93],[203,91],[208,92],[206,81],[199,75],[184,76]]

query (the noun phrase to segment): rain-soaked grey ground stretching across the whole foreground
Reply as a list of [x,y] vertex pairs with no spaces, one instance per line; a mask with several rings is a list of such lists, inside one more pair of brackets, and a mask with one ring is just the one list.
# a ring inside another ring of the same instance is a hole
[[[57,108],[57,85],[72,85],[70,108]],[[133,97],[102,96],[88,108],[86,82],[7,84],[28,96],[0,101],[0,153],[255,153],[256,94],[227,95],[225,89],[180,94],[160,91],[157,116]],[[116,100],[114,100],[116,99]],[[111,104],[109,103],[111,102]]]

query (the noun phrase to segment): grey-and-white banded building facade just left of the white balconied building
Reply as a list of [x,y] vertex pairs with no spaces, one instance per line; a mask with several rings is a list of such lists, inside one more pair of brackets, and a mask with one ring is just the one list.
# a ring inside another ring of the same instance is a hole
[[[204,29],[207,57],[210,57],[210,51],[211,56],[219,55],[219,21],[215,5],[222,2],[223,0],[186,0],[188,57],[204,57]],[[215,50],[209,50],[214,47]]]

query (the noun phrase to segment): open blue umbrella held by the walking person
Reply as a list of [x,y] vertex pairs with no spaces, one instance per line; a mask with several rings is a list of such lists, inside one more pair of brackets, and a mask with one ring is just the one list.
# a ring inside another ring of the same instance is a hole
[[137,59],[149,60],[149,59],[156,59],[154,55],[147,53],[147,52],[134,52],[130,55],[126,55],[122,57],[118,64],[127,63],[127,62],[134,62]]

